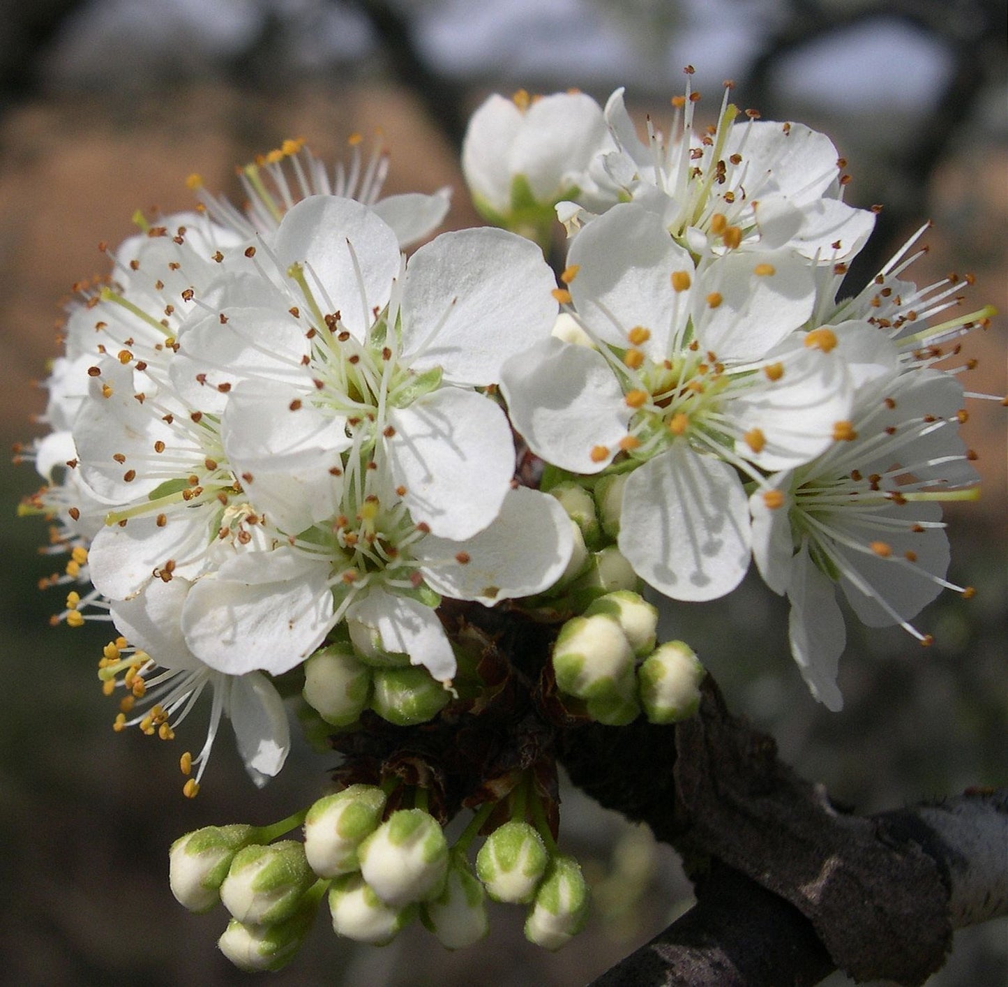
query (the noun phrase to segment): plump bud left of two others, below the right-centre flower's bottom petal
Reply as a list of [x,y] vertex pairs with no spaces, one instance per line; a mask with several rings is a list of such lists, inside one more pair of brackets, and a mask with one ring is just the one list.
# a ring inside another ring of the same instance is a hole
[[626,634],[619,622],[606,614],[572,617],[553,645],[556,685],[579,699],[630,696],[633,667]]

